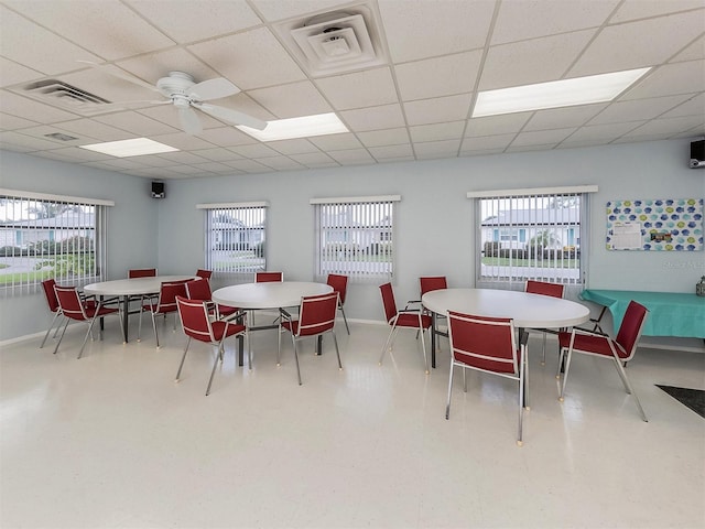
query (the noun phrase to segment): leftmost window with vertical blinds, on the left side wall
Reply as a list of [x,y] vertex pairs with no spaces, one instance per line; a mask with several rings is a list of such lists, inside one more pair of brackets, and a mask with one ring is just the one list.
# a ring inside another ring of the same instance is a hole
[[0,190],[0,290],[83,287],[106,277],[109,201]]

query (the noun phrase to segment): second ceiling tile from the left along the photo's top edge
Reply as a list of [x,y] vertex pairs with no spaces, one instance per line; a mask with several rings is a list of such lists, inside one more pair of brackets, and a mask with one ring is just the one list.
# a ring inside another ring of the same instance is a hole
[[234,33],[262,23],[254,11],[242,1],[169,0],[167,4],[153,0],[127,1],[180,44]]

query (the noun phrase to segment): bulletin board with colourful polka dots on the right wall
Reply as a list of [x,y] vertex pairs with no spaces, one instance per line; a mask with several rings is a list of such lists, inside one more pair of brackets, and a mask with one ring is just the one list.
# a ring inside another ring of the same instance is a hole
[[607,203],[608,250],[703,250],[703,198]]

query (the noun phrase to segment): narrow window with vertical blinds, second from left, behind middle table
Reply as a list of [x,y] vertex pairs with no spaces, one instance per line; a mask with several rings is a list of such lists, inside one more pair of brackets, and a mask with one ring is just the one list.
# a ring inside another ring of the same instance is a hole
[[199,204],[206,209],[206,268],[229,281],[252,281],[267,270],[265,202]]

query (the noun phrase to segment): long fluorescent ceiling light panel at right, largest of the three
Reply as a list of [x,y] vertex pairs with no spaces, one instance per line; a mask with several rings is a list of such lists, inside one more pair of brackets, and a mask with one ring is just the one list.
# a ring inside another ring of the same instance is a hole
[[473,117],[480,118],[482,116],[611,101],[650,69],[628,69],[611,74],[480,91],[477,95]]

